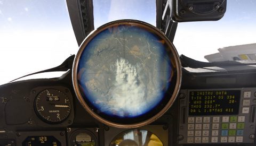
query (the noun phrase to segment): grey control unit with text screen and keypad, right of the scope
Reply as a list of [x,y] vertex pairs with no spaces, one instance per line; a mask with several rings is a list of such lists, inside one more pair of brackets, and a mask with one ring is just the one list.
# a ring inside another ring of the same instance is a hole
[[179,143],[253,143],[255,88],[181,90]]

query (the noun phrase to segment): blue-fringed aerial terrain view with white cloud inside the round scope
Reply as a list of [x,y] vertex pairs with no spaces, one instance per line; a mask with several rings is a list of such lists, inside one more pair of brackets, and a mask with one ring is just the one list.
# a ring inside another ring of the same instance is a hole
[[85,46],[77,79],[85,101],[97,112],[137,117],[161,102],[172,78],[163,39],[137,25],[99,32]]

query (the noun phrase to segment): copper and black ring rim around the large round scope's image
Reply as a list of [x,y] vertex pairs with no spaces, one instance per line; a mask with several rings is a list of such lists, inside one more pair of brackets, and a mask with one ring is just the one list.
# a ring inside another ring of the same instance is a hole
[[[170,87],[168,88],[167,92],[164,95],[163,100],[158,104],[159,106],[156,106],[155,109],[150,110],[149,113],[141,115],[139,117],[135,118],[123,118],[120,119],[118,117],[109,117],[105,114],[97,114],[95,111],[97,108],[93,107],[93,105],[90,104],[90,102],[86,102],[84,97],[84,93],[80,91],[79,85],[78,85],[78,79],[77,79],[77,71],[78,71],[78,64],[79,59],[81,58],[81,55],[83,54],[84,49],[86,48],[86,45],[89,44],[89,42],[97,36],[100,32],[112,28],[112,27],[118,27],[119,25],[131,25],[131,26],[137,26],[143,29],[146,29],[150,31],[151,33],[154,33],[159,38],[163,39],[165,44],[167,45],[167,49],[165,48],[166,54],[169,56],[170,62],[173,65],[173,78],[172,82],[173,84],[170,84]],[[73,85],[75,89],[75,93],[77,95],[77,98],[79,102],[81,102],[81,105],[87,110],[89,114],[91,114],[94,118],[98,119],[98,121],[114,126],[114,127],[122,127],[122,128],[132,128],[132,127],[139,127],[143,125],[147,125],[153,121],[155,121],[157,118],[162,116],[173,104],[175,98],[178,95],[180,85],[181,85],[181,64],[180,59],[177,53],[177,50],[173,46],[172,42],[164,35],[164,33],[157,28],[155,28],[153,25],[150,25],[146,22],[138,21],[138,20],[117,20],[113,22],[109,22],[105,25],[102,25],[97,30],[94,30],[92,33],[90,33],[89,36],[85,38],[85,40],[82,42],[81,46],[79,47],[78,53],[75,57],[75,61],[73,64]]]

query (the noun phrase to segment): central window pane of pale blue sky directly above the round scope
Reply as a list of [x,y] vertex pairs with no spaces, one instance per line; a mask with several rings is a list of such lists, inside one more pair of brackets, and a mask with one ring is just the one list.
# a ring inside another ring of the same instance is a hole
[[94,0],[94,28],[119,19],[135,19],[156,25],[156,1]]

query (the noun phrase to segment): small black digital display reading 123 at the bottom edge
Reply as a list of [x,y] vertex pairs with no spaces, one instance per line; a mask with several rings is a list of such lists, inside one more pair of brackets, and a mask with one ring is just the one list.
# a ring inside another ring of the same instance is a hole
[[61,146],[61,143],[54,136],[28,136],[22,146]]

